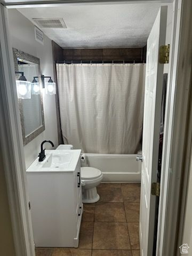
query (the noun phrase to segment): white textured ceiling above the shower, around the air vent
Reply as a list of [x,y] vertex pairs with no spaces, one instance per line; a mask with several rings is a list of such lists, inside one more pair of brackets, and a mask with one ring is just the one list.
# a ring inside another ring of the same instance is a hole
[[63,18],[66,29],[41,28],[63,48],[142,47],[146,45],[160,6],[151,3],[66,4],[18,10],[32,22],[32,18]]

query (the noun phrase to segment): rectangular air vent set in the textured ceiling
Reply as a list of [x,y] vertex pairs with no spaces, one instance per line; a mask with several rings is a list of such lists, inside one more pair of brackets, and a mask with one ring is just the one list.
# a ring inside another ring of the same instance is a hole
[[33,18],[40,28],[67,28],[62,18]]

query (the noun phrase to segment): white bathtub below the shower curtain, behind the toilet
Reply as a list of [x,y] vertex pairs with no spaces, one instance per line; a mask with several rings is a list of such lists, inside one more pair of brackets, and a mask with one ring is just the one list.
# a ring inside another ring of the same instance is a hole
[[103,173],[102,182],[140,182],[141,162],[136,161],[137,154],[89,154],[86,153],[86,165],[98,168]]

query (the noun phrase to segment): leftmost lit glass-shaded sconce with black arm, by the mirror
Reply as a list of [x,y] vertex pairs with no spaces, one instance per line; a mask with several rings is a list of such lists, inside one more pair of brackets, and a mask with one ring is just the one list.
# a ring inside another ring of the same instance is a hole
[[31,83],[27,81],[23,72],[16,71],[15,74],[21,74],[18,80],[16,80],[17,94],[19,99],[31,98]]

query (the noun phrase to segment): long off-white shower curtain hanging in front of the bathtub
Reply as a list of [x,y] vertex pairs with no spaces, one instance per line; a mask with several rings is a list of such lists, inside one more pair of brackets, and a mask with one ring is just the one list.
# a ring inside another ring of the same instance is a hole
[[57,78],[65,143],[85,153],[137,151],[145,64],[57,64]]

